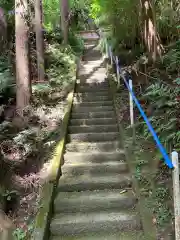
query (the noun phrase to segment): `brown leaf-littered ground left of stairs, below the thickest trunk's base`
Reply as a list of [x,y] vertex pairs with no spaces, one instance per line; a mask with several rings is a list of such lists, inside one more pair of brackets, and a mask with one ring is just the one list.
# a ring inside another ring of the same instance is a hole
[[[49,160],[61,134],[67,106],[66,92],[53,92],[47,99],[34,97],[27,116],[20,120],[10,104],[0,123],[3,208],[15,225],[15,237],[28,239],[38,211],[39,190],[48,177]],[[37,102],[36,102],[37,100]]]

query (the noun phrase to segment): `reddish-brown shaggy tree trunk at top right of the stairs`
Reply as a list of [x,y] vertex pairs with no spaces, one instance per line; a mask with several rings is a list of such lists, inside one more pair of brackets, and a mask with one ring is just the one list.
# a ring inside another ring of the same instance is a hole
[[156,61],[162,55],[162,44],[157,34],[154,0],[140,0],[143,40],[150,59]]

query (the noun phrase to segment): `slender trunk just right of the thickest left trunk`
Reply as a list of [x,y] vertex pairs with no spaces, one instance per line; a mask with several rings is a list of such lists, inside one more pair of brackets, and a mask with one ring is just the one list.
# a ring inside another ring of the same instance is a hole
[[44,81],[44,38],[42,27],[42,2],[35,0],[35,30],[36,30],[36,52],[37,52],[37,68],[38,81]]

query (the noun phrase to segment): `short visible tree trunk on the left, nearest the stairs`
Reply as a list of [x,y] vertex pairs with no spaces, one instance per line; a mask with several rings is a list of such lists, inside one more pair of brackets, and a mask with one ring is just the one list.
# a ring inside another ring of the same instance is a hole
[[60,0],[61,1],[61,30],[63,33],[64,44],[68,43],[68,32],[69,32],[69,4],[68,0]]

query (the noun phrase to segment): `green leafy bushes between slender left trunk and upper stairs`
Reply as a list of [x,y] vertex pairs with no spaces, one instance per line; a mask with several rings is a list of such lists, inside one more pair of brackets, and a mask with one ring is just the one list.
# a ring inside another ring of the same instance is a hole
[[[32,86],[34,103],[51,104],[51,96],[57,91],[70,89],[76,73],[76,56],[70,46],[52,43],[47,46],[45,57],[47,59],[48,83]],[[59,93],[59,97],[62,96]],[[63,97],[63,96],[62,96]]]

